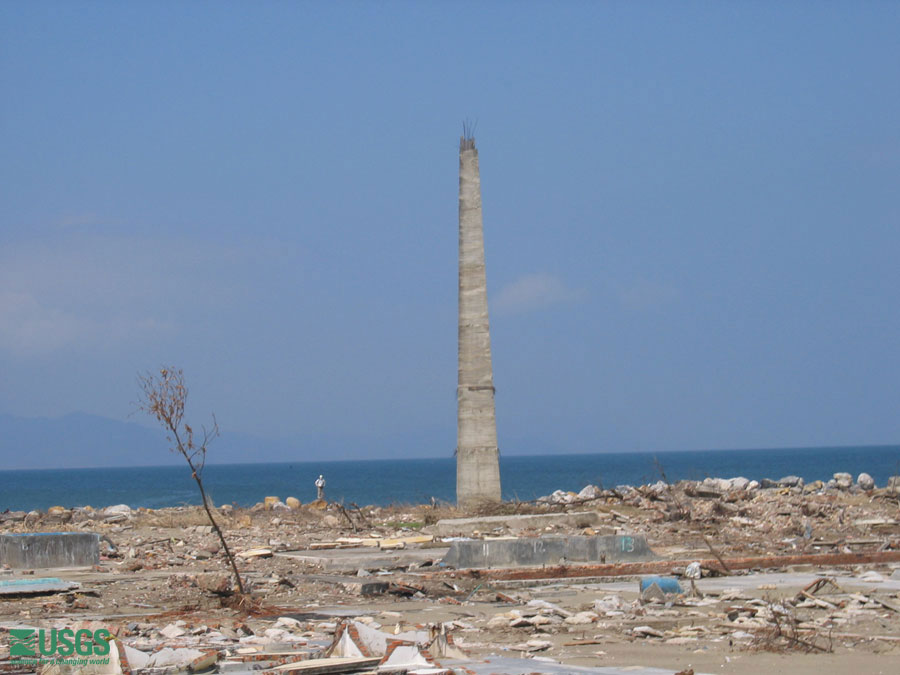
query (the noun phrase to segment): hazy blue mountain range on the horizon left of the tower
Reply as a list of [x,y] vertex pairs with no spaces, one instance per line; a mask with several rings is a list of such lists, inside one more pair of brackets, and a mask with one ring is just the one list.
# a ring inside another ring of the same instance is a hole
[[[284,440],[223,430],[210,444],[207,461],[231,464],[452,456],[455,440],[455,428],[377,439],[348,434]],[[155,466],[181,461],[169,451],[161,428],[86,413],[56,418],[0,413],[0,469]]]

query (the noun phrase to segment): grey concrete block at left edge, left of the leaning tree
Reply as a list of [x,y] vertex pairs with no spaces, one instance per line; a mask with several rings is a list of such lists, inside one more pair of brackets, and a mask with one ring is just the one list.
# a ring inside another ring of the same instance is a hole
[[100,535],[93,532],[0,534],[0,564],[12,569],[91,567],[100,563]]

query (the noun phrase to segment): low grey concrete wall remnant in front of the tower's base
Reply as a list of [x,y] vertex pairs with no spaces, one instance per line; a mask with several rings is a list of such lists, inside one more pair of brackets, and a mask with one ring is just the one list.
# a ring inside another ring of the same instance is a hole
[[457,569],[512,568],[570,562],[658,560],[641,535],[527,537],[454,541],[443,562]]

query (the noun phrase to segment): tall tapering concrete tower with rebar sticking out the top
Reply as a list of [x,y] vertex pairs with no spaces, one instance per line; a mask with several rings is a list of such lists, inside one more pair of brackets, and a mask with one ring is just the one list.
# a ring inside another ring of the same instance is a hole
[[481,178],[475,139],[459,141],[459,382],[456,390],[456,501],[500,501],[494,371],[484,273]]

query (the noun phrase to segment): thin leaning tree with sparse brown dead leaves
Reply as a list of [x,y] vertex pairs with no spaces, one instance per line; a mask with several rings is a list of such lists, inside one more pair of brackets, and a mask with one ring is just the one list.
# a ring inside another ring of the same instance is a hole
[[203,508],[206,510],[206,515],[209,516],[209,522],[212,523],[213,529],[219,535],[222,550],[225,551],[225,557],[234,572],[238,592],[243,595],[244,584],[241,582],[237,564],[225,541],[225,535],[222,534],[216,519],[213,518],[209,508],[209,499],[203,487],[202,473],[203,467],[206,465],[206,448],[210,441],[219,435],[216,416],[212,416],[212,427],[209,429],[201,427],[202,435],[198,434],[195,439],[194,429],[184,421],[184,405],[187,401],[188,390],[184,385],[184,372],[181,368],[160,368],[159,375],[151,372],[139,374],[138,385],[141,388],[138,408],[156,418],[156,421],[165,427],[166,438],[172,444],[170,450],[184,457],[191,468],[191,478],[196,481],[197,487],[200,489]]

